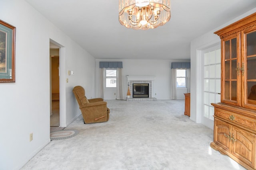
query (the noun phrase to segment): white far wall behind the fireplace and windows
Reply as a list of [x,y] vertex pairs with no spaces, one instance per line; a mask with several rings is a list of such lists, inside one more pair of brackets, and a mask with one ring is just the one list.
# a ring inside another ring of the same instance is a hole
[[[158,100],[169,100],[171,96],[171,69],[170,65],[172,62],[190,62],[189,60],[104,60],[96,59],[96,96],[99,96],[99,62],[100,61],[122,61],[122,83],[123,83],[123,96],[126,99],[127,94],[127,78],[126,75],[130,76],[155,76],[154,80],[154,92],[152,96]],[[116,90],[107,90],[104,92],[104,99],[116,99],[114,93]],[[179,96],[184,96],[177,94]],[[156,95],[155,95],[156,94]]]

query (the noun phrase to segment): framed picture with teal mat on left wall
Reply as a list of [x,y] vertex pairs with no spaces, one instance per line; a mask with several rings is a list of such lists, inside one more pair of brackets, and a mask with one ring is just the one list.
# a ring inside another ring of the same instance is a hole
[[0,83],[15,82],[15,31],[0,20]]

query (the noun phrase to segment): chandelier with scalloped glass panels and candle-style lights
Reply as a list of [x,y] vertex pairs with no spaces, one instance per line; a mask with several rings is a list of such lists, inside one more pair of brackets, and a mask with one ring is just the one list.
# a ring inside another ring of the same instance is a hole
[[170,0],[119,0],[119,21],[127,28],[153,29],[170,18]]

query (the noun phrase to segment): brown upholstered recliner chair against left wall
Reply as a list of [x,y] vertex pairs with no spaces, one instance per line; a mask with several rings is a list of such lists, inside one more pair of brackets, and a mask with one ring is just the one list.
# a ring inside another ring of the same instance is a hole
[[108,121],[110,110],[102,98],[87,99],[82,86],[75,86],[73,93],[84,118],[84,123]]

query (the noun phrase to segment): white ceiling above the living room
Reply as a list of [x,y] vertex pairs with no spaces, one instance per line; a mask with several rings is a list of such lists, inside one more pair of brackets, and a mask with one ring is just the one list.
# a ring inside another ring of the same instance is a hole
[[256,0],[171,0],[171,19],[133,30],[118,0],[26,0],[96,59],[190,59],[190,41],[256,7]]

